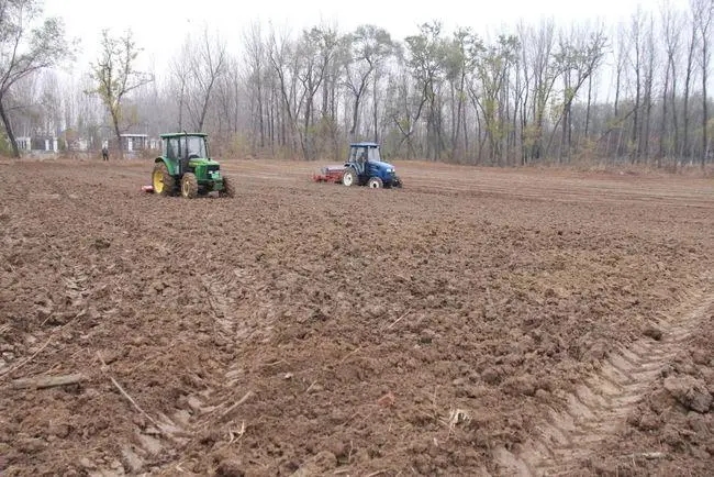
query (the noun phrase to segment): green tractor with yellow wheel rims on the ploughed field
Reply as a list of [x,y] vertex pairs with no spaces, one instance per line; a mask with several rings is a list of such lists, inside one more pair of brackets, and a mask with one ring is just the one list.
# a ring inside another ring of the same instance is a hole
[[159,196],[187,199],[217,191],[221,197],[233,197],[233,182],[221,174],[221,165],[209,156],[208,134],[161,134],[161,157],[154,160],[152,189]]

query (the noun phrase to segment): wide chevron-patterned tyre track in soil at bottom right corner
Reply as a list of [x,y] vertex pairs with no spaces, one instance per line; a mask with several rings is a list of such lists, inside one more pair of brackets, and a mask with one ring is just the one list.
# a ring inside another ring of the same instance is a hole
[[[706,277],[705,281],[711,280]],[[562,392],[565,411],[548,408],[535,439],[511,450],[493,451],[494,462],[509,475],[566,476],[582,470],[582,463],[600,443],[615,435],[644,398],[662,368],[696,332],[714,307],[714,292],[693,295],[679,319],[662,318],[662,339],[640,339],[602,360],[600,370],[574,392]]]

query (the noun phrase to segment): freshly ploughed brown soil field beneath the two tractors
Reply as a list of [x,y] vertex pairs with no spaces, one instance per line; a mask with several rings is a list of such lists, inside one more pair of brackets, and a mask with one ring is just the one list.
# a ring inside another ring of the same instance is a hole
[[0,162],[3,476],[711,475],[711,179],[150,166]]

